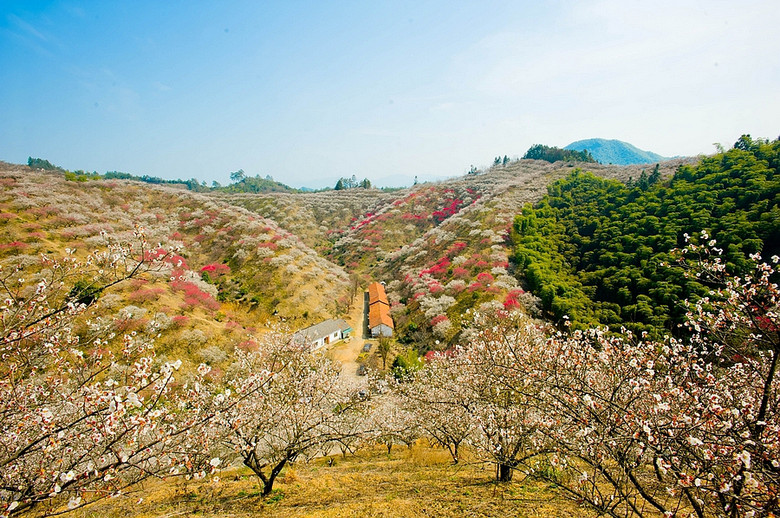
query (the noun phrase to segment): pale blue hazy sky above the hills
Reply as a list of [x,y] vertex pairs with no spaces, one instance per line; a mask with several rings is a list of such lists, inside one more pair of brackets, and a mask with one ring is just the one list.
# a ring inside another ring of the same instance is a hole
[[780,2],[0,0],[0,160],[228,183],[780,134]]

